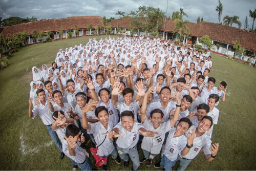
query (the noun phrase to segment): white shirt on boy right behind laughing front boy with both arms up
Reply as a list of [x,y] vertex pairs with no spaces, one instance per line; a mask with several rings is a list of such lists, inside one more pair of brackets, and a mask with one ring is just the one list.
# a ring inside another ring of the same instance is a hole
[[163,122],[167,122],[169,120],[170,110],[172,110],[173,108],[176,108],[175,104],[168,102],[166,108],[163,109],[162,105],[161,105],[161,101],[159,100],[159,101],[153,102],[153,103],[151,103],[151,105],[147,106],[146,115],[147,115],[147,118],[150,118],[151,111],[153,111],[154,109],[160,109],[164,113]]

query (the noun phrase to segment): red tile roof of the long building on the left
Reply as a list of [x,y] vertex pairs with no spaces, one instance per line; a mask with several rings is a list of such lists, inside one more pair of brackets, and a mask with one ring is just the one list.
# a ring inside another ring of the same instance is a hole
[[60,26],[62,26],[63,30],[73,30],[76,26],[78,29],[86,29],[89,24],[92,24],[93,28],[96,28],[98,25],[101,28],[105,26],[102,24],[99,16],[90,17],[90,16],[78,16],[78,17],[68,17],[68,18],[60,18],[60,19],[49,19],[49,20],[41,20],[37,22],[29,22],[22,23],[18,25],[8,26],[4,28],[0,28],[2,30],[3,35],[6,37],[8,34],[12,37],[13,33],[19,33],[23,31],[28,31],[29,35],[32,35],[34,29],[43,32],[47,32],[47,29],[54,31],[60,31]]

